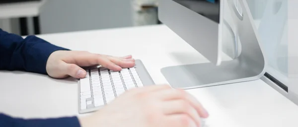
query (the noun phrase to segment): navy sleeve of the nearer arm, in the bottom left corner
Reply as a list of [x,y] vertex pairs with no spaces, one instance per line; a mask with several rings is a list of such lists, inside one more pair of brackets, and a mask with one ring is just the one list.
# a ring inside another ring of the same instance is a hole
[[80,127],[76,117],[20,119],[0,114],[0,127]]

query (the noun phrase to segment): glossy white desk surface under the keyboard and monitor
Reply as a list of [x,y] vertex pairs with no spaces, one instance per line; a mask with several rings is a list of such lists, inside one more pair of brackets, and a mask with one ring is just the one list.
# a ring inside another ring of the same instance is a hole
[[[167,83],[162,67],[207,62],[163,25],[39,37],[72,50],[132,54],[143,61],[157,84]],[[19,71],[0,71],[0,78],[0,112],[25,118],[78,115],[77,82],[71,78],[58,80]],[[298,127],[298,106],[262,80],[188,91],[208,109],[207,127]]]

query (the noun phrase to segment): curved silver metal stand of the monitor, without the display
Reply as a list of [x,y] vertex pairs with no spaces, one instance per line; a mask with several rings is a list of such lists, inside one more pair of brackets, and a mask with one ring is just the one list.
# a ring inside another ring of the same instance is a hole
[[[229,8],[234,7],[232,0],[227,1]],[[239,0],[243,8],[243,18],[231,16],[239,40],[240,55],[216,66],[212,63],[169,66],[161,69],[169,84],[174,88],[198,88],[214,85],[256,80],[265,74],[265,59],[258,39],[258,31],[246,0]],[[232,11],[231,11],[232,12]]]

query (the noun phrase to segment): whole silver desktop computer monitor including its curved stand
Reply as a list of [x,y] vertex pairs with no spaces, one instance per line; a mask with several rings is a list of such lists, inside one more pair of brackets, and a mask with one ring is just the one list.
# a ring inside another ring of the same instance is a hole
[[[265,58],[246,0],[159,0],[158,18],[210,61],[162,68],[172,87],[222,85],[264,75]],[[233,39],[225,40],[228,33]],[[226,48],[233,52],[226,54]]]

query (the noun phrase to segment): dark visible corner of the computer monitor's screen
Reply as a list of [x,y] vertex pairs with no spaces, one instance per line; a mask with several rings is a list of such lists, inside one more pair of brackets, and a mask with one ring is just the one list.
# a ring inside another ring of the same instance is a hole
[[173,0],[217,23],[220,23],[220,0]]

